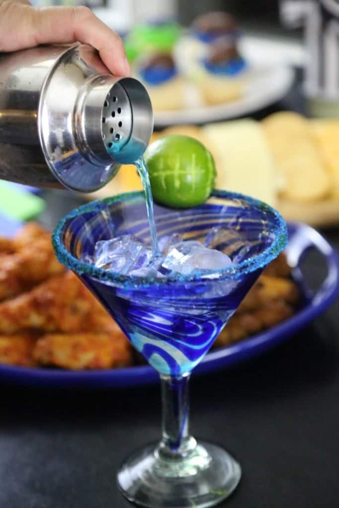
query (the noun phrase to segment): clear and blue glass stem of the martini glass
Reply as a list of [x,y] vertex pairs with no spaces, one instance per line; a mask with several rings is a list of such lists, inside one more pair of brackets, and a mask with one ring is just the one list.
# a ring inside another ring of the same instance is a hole
[[189,435],[190,374],[161,375],[162,441],[159,453],[163,458],[182,460],[196,447]]

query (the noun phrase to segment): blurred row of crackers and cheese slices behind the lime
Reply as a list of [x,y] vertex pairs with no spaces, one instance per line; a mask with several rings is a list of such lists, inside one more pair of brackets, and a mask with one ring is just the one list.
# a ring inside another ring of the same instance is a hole
[[[168,134],[191,136],[212,153],[216,188],[248,194],[278,208],[287,220],[314,226],[339,221],[339,120],[308,119],[277,112],[262,121],[251,118],[203,126],[171,126],[153,134],[151,142]],[[134,166],[89,198],[141,190]]]

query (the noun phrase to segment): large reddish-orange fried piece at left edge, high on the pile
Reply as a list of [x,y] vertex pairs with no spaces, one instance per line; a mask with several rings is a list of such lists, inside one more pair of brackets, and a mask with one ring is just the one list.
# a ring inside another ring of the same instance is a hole
[[53,251],[50,237],[38,238],[0,264],[0,301],[18,295],[54,275],[65,272]]

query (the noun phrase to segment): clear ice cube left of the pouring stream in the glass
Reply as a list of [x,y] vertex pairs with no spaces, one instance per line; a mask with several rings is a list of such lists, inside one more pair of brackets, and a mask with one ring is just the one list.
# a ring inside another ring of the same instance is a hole
[[97,242],[94,264],[105,270],[127,274],[147,266],[152,259],[152,250],[131,235]]

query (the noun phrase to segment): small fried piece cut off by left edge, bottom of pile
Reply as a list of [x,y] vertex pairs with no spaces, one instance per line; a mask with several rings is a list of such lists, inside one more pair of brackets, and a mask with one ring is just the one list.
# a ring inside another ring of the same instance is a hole
[[30,367],[33,362],[33,348],[36,335],[20,333],[16,335],[0,334],[0,363]]

